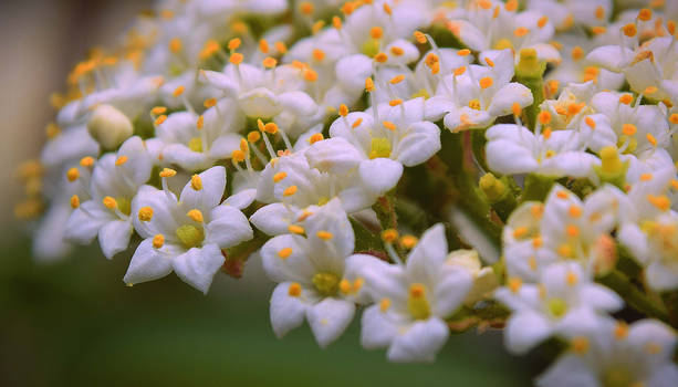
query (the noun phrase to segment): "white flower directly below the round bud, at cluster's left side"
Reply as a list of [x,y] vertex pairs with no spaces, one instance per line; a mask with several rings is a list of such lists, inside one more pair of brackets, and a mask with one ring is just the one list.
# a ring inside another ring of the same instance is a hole
[[152,168],[146,146],[136,136],[127,139],[117,154],[104,155],[92,172],[92,199],[83,201],[65,224],[66,240],[88,244],[98,234],[108,259],[127,249],[133,231],[132,200],[148,181]]

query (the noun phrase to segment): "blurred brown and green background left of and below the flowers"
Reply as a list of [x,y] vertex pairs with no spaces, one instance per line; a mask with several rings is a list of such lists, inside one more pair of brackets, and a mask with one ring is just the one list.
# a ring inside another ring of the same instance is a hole
[[[115,40],[150,1],[0,1],[0,168],[36,157],[48,100],[85,50]],[[20,135],[18,135],[20,134]],[[526,386],[530,358],[489,332],[450,338],[432,365],[393,365],[359,347],[359,318],[327,349],[307,327],[284,339],[268,316],[272,284],[259,262],[218,275],[204,296],[174,275],[126,287],[129,255],[97,247],[35,264],[11,215],[19,185],[0,192],[0,386]]]

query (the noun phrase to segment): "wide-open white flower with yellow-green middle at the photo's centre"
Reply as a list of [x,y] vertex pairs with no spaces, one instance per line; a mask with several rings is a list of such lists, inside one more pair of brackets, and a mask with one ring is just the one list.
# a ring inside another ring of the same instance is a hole
[[357,169],[365,187],[380,196],[396,186],[404,166],[419,165],[440,150],[440,129],[423,117],[424,98],[377,109],[377,123],[371,112],[338,117],[330,127],[332,138],[306,150],[309,164],[342,175]]

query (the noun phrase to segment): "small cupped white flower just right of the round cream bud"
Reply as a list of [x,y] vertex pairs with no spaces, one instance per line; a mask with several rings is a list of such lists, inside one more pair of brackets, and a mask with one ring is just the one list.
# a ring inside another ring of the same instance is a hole
[[243,122],[232,100],[219,101],[201,117],[190,112],[173,113],[156,128],[157,138],[165,144],[163,161],[200,170],[230,158],[239,149],[242,137],[236,132]]

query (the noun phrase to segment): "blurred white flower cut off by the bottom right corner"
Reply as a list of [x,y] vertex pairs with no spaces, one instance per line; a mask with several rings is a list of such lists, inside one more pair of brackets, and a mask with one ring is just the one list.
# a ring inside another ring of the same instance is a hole
[[605,324],[595,335],[575,336],[571,348],[536,379],[544,387],[670,387],[676,333],[655,320]]

